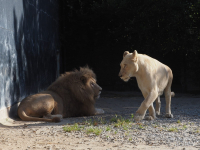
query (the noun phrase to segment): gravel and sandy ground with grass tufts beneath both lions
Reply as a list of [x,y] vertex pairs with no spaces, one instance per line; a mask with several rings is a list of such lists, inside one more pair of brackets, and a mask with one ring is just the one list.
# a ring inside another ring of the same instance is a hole
[[[200,96],[176,94],[171,119],[163,117],[165,100],[161,98],[161,115],[156,120],[135,122],[133,113],[143,100],[140,93],[102,94],[96,106],[104,109],[104,115],[66,118],[60,123],[1,121],[0,150],[200,149]],[[80,130],[63,130],[74,123]]]

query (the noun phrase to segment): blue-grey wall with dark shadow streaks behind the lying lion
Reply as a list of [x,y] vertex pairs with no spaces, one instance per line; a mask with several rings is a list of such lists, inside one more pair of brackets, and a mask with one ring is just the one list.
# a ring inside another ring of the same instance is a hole
[[57,0],[0,1],[0,109],[56,79],[58,38]]

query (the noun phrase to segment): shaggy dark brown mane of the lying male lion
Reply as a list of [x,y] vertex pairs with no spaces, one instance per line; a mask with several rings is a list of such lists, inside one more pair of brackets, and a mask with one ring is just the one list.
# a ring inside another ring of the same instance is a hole
[[96,79],[95,73],[88,67],[80,68],[62,74],[53,82],[47,91],[56,93],[62,98],[64,107],[63,117],[94,115],[94,93],[81,79],[88,81]]

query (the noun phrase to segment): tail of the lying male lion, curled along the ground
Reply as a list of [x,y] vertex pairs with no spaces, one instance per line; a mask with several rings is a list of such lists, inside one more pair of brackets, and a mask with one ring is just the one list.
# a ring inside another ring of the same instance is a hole
[[30,116],[27,116],[26,113],[25,113],[23,110],[18,111],[18,115],[19,115],[19,117],[20,117],[23,121],[60,122],[60,118],[59,118],[59,117],[54,117],[54,118],[52,118],[52,119],[30,117]]

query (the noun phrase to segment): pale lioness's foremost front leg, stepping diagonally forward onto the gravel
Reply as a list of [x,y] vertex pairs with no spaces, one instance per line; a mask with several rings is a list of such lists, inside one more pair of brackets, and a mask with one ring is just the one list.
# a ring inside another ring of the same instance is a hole
[[[140,121],[144,119],[147,109],[150,107],[150,105],[153,104],[153,102],[155,101],[157,97],[158,97],[158,92],[156,90],[152,90],[148,94],[148,96],[145,98],[145,100],[142,102],[142,104],[136,111],[136,114],[134,116],[135,121]],[[155,113],[155,110],[154,110],[154,113]]]

